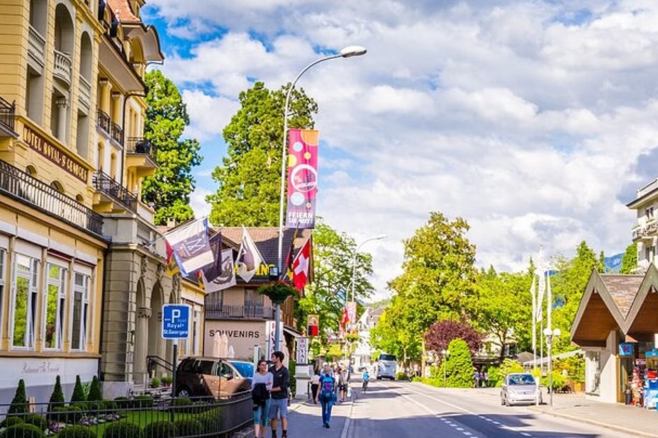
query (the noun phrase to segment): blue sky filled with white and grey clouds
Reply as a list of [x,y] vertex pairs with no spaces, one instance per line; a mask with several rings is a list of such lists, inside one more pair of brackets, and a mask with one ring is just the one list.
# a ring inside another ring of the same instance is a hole
[[191,206],[217,184],[238,94],[297,82],[319,106],[316,213],[373,257],[373,299],[430,212],[463,218],[476,266],[527,269],[540,247],[606,256],[658,177],[654,0],[147,0],[161,68],[201,144]]

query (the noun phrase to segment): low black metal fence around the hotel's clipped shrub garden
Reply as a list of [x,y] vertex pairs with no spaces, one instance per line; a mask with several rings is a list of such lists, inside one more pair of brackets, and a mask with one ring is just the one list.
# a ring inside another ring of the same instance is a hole
[[95,402],[5,404],[0,412],[0,435],[6,438],[223,438],[253,421],[249,391],[219,400],[136,395]]

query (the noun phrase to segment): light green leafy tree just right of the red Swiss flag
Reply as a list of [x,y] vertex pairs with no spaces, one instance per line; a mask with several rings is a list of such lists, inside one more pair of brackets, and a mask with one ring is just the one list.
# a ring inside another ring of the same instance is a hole
[[[327,339],[338,332],[345,303],[351,300],[352,256],[355,241],[345,232],[338,232],[318,220],[313,230],[313,283],[306,286],[303,298],[297,301],[295,318],[299,330],[306,325],[308,315],[320,315],[320,335]],[[372,274],[372,257],[359,252],[356,257],[355,301],[359,303],[374,292],[368,276]],[[362,305],[357,305],[361,313]]]

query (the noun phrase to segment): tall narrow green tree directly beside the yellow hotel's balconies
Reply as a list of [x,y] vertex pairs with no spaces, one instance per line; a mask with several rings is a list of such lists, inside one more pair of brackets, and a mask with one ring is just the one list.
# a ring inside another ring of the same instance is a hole
[[142,200],[155,206],[155,224],[182,223],[194,218],[189,195],[194,191],[192,168],[201,164],[199,142],[182,139],[189,116],[174,83],[160,70],[145,77],[148,93],[144,135],[157,150],[155,175],[145,178]]

